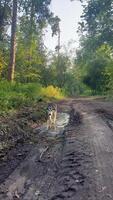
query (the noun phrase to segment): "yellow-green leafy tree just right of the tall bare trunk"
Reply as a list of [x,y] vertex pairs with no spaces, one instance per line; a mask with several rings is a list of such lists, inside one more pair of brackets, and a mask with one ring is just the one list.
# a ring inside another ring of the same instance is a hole
[[21,82],[37,82],[44,65],[46,51],[43,46],[42,31],[33,30],[30,34],[31,22],[26,16],[21,18],[17,32],[16,80]]

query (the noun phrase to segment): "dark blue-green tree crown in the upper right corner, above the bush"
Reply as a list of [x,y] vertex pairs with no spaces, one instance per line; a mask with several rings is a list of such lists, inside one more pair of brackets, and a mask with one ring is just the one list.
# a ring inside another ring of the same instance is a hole
[[112,3],[112,0],[87,0],[84,5],[80,30],[100,45],[104,42],[113,45]]

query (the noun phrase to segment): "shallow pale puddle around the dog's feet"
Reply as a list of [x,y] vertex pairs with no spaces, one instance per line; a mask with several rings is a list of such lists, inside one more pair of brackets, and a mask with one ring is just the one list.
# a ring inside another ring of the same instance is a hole
[[46,133],[49,136],[56,136],[58,134],[62,134],[65,126],[69,123],[69,114],[67,113],[58,113],[57,121],[56,121],[56,129],[51,128],[47,130],[47,125],[44,124],[40,127],[40,134]]

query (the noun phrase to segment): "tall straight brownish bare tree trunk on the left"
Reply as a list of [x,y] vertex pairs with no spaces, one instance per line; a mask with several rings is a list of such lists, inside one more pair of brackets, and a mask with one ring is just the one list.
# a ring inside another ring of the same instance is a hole
[[8,67],[8,80],[14,80],[15,73],[15,58],[16,58],[16,26],[17,26],[17,0],[13,0],[13,16],[11,26],[11,48],[10,48],[10,61]]

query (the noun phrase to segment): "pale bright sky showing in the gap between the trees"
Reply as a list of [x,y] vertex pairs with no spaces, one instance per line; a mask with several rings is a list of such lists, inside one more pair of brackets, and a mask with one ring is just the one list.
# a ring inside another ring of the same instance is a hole
[[[70,40],[74,40],[74,46],[77,48],[79,46],[77,28],[82,14],[81,3],[77,0],[72,2],[71,0],[52,0],[50,8],[61,19],[61,45],[66,45]],[[50,27],[45,32],[44,42],[49,50],[54,51],[57,37],[51,37]]]

